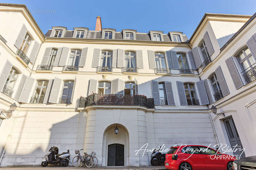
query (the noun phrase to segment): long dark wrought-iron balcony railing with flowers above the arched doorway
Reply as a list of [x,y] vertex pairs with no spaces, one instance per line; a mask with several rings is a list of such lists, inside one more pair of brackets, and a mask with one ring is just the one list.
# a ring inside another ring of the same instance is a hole
[[154,99],[143,95],[130,94],[92,94],[88,97],[80,97],[79,107],[90,105],[140,105],[154,108]]

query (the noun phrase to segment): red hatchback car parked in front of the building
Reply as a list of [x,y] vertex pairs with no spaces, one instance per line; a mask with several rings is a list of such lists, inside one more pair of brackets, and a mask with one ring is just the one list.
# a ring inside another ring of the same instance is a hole
[[165,168],[170,170],[232,170],[236,158],[207,146],[174,146],[165,155]]

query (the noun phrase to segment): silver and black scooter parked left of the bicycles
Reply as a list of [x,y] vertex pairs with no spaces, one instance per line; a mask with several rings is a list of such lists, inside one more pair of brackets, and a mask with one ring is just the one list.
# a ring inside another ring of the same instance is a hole
[[69,150],[67,152],[62,152],[61,154],[58,153],[59,149],[56,146],[51,147],[50,150],[45,154],[41,165],[43,167],[47,166],[48,164],[61,164],[62,166],[67,166],[70,160]]

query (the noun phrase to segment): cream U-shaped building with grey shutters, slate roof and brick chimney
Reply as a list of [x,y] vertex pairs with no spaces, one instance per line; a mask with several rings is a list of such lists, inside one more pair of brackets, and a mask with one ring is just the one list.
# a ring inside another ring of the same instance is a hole
[[100,17],[95,30],[44,35],[20,4],[0,16],[0,109],[17,105],[0,115],[0,166],[38,165],[53,145],[94,151],[99,166],[150,165],[145,144],[256,154],[256,15],[206,13],[189,40],[102,29]]

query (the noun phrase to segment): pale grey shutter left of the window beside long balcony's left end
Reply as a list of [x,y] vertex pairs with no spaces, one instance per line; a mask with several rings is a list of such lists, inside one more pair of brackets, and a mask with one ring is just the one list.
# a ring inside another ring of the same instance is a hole
[[52,90],[49,98],[50,103],[58,103],[62,79],[55,77],[52,83]]

